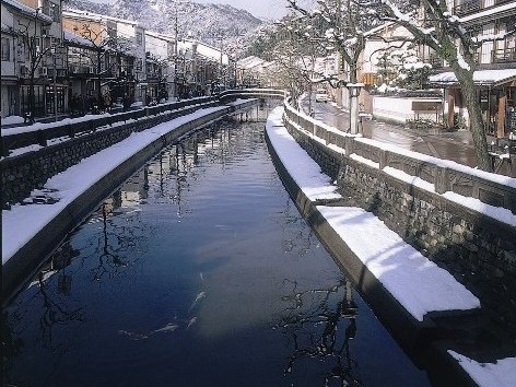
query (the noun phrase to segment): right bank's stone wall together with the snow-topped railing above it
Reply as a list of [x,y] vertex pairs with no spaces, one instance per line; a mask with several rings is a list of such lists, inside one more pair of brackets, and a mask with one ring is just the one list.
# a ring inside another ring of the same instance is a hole
[[515,178],[351,136],[284,107],[285,128],[336,181],[342,206],[373,212],[516,335]]

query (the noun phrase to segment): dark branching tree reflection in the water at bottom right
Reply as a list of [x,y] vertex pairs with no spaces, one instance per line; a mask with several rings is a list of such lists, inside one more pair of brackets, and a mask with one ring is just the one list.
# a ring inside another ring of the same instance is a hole
[[[291,303],[274,329],[283,329],[293,344],[292,355],[284,368],[284,375],[292,373],[295,363],[314,359],[327,366],[322,372],[324,385],[338,383],[341,386],[360,386],[357,363],[352,360],[349,342],[355,337],[357,308],[352,298],[352,288],[348,279],[329,289],[301,291],[297,282],[292,294],[283,296]],[[347,325],[343,335],[342,325]],[[340,333],[340,335],[339,335]]]

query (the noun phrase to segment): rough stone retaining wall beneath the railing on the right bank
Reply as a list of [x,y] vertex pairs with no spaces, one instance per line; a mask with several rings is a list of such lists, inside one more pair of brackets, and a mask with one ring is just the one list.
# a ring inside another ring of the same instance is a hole
[[375,213],[465,284],[516,335],[516,227],[349,157],[315,140],[310,128],[303,131],[298,124],[284,121],[351,206]]

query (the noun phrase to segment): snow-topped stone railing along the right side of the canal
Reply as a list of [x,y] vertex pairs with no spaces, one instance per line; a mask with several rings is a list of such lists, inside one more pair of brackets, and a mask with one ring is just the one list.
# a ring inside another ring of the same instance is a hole
[[479,199],[493,207],[502,207],[516,214],[516,179],[512,184],[501,184],[500,176],[470,168],[464,165],[454,167],[436,157],[412,152],[397,152],[392,148],[383,146],[374,140],[345,133],[337,128],[327,126],[304,113],[296,110],[285,99],[285,126],[295,130],[304,130],[319,139],[326,146],[341,149],[345,156],[354,154],[375,165],[379,169],[392,167],[410,176],[433,185],[435,192],[455,192],[465,197]]

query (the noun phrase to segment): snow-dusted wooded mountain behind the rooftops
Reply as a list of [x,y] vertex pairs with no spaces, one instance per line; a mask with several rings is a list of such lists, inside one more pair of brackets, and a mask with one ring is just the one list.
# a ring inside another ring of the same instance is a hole
[[[200,4],[188,0],[115,0],[109,4],[87,0],[69,0],[64,9],[78,9],[139,22],[143,27],[192,37],[234,54],[247,49],[253,37],[267,23],[249,12],[226,4]],[[177,25],[176,25],[177,17]]]

